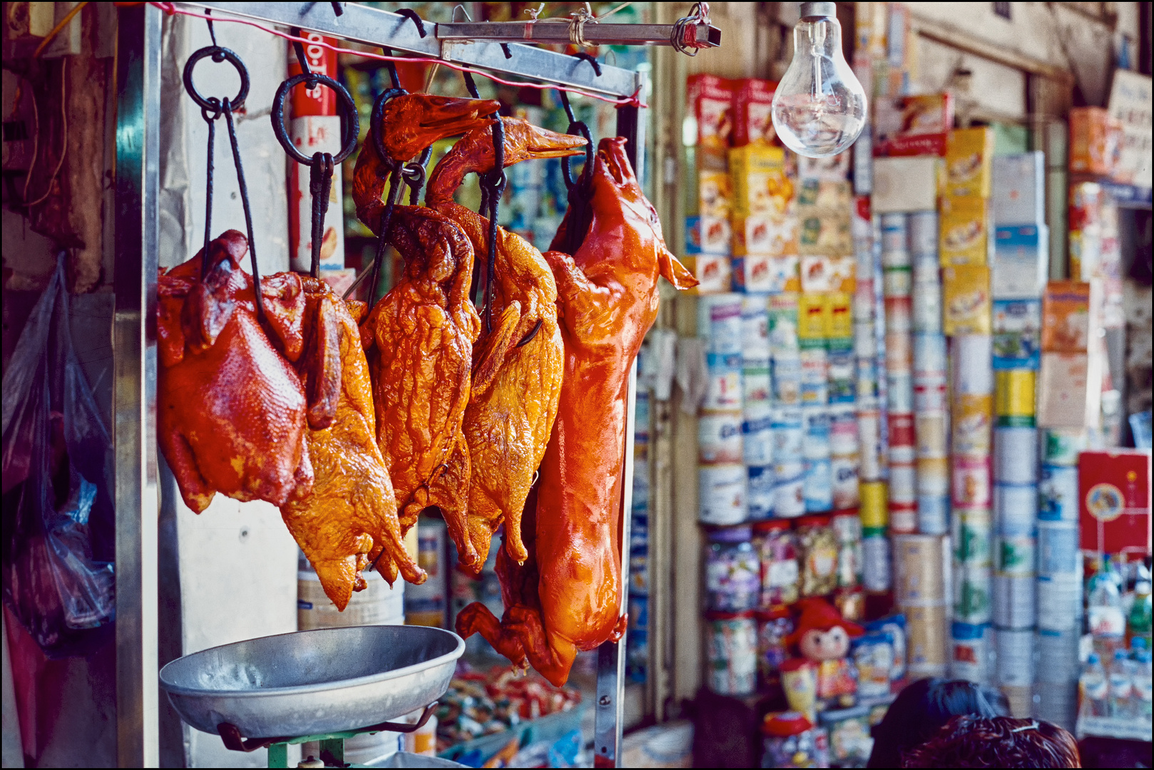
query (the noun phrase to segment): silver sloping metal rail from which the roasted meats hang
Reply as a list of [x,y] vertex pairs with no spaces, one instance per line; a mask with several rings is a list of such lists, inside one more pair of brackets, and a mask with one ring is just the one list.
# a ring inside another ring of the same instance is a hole
[[[360,3],[344,3],[337,16],[328,2],[187,2],[200,8],[212,8],[223,14],[261,21],[277,27],[297,27],[372,46],[388,46],[397,52],[444,59],[471,67],[487,69],[499,75],[514,75],[570,85],[594,94],[632,96],[637,91],[637,74],[621,67],[600,65],[598,76],[587,61],[576,57],[546,51],[532,45],[508,44],[509,58],[497,43],[470,43],[462,39],[439,40],[435,28],[445,24],[426,23],[422,38],[417,24],[399,14],[369,8]],[[550,24],[568,29],[565,24]],[[592,25],[586,25],[586,30]],[[614,24],[628,27],[628,24]],[[653,27],[646,24],[645,27]],[[568,32],[565,40],[568,42]]]

